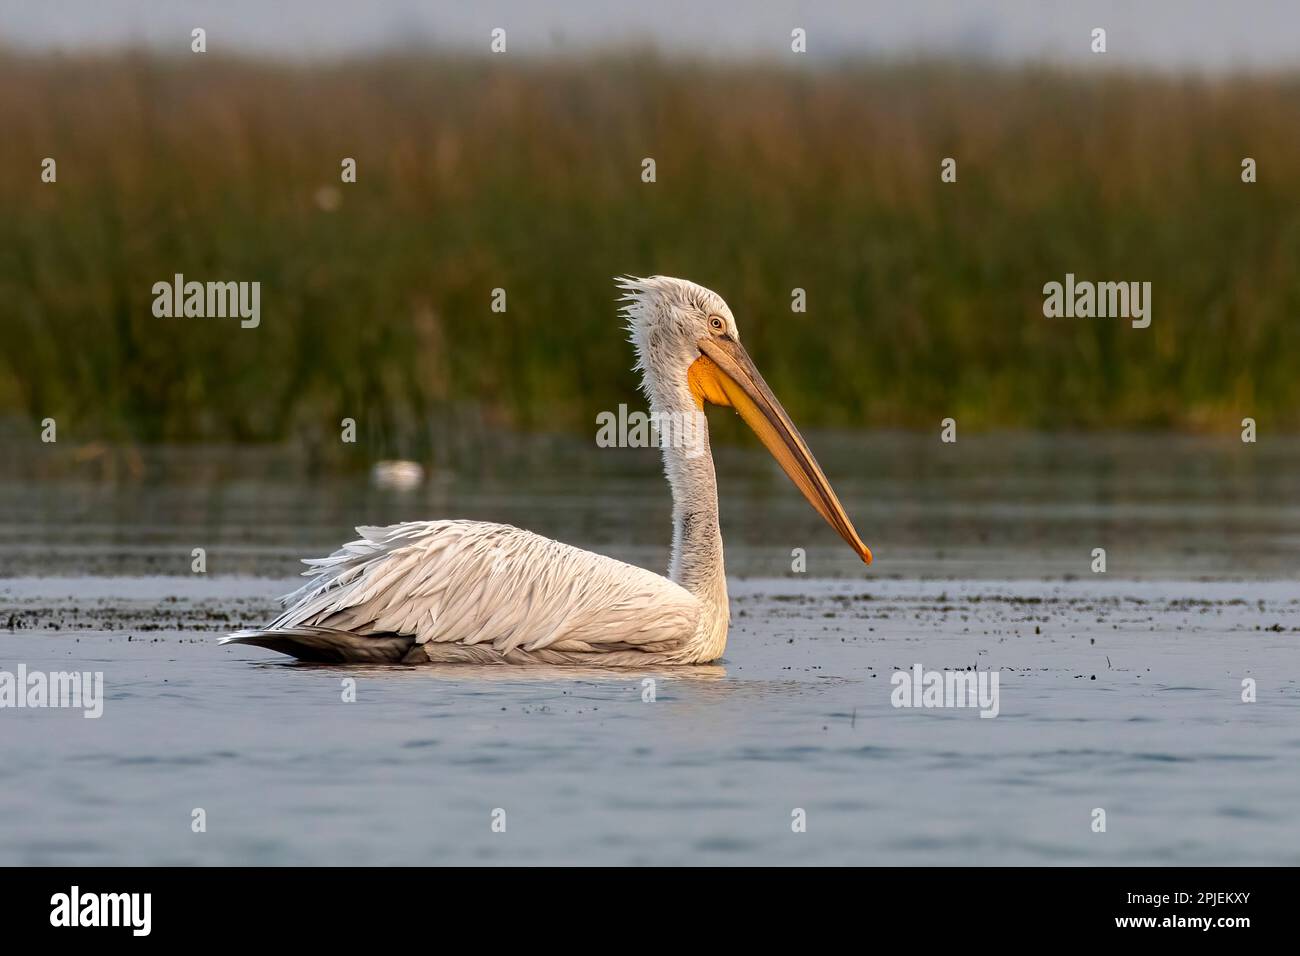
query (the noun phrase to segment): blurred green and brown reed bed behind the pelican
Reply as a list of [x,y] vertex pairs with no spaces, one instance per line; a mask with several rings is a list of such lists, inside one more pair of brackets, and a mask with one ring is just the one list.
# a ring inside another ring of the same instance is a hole
[[[61,441],[593,429],[620,273],[719,291],[810,428],[1300,425],[1295,75],[9,53],[0,129],[0,418]],[[155,317],[178,272],[261,326]],[[1066,272],[1150,328],[1044,319]]]

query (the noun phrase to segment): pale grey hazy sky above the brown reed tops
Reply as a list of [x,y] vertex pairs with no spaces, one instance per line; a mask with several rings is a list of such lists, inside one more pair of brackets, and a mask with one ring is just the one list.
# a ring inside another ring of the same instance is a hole
[[790,30],[818,55],[975,55],[1222,72],[1300,65],[1300,0],[0,0],[0,44],[129,43],[321,57],[410,44],[556,53],[649,42],[716,57],[786,55]]

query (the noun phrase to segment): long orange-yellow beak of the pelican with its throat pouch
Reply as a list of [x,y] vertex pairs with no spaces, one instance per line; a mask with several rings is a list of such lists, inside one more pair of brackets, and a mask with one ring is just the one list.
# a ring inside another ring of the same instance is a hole
[[711,336],[701,339],[698,346],[701,355],[688,373],[696,401],[701,406],[705,402],[732,406],[816,512],[870,564],[871,549],[862,544],[800,431],[741,343],[731,336]]

